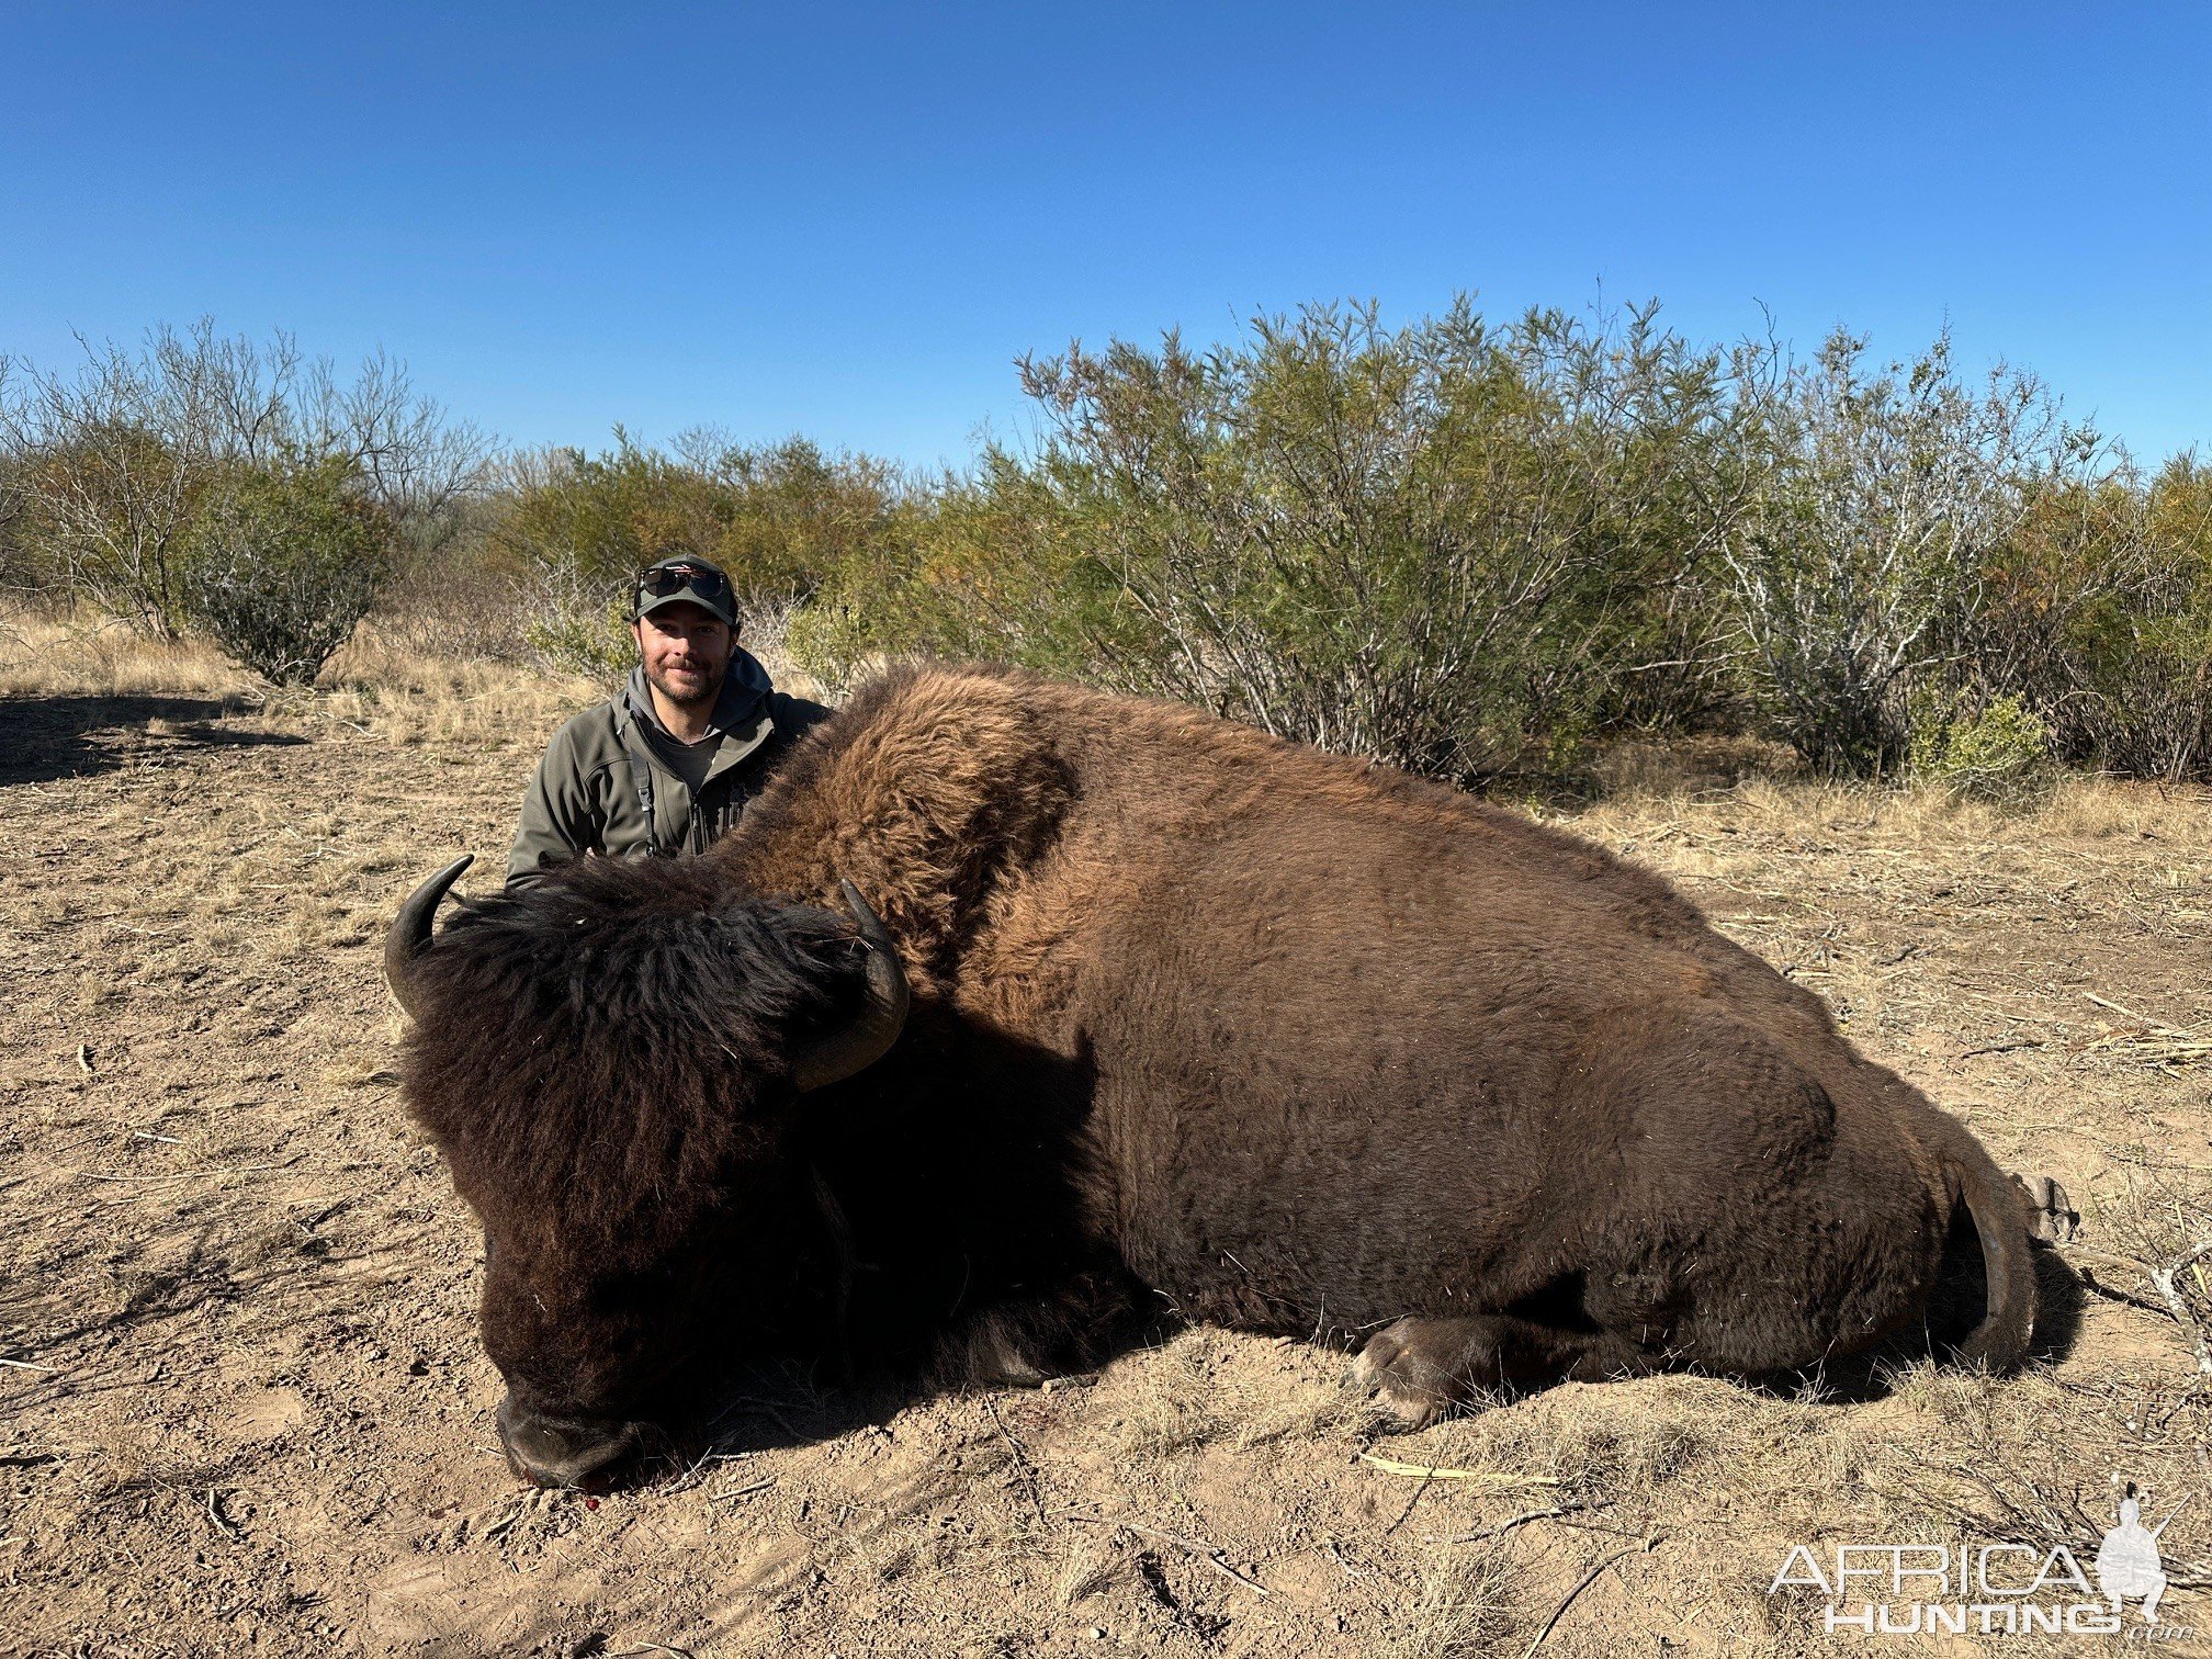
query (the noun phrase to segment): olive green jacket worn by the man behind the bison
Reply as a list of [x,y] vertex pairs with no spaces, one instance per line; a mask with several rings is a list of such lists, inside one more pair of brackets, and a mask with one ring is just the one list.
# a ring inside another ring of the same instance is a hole
[[[644,670],[633,670],[630,684],[615,697],[553,734],[522,796],[507,885],[529,887],[544,880],[549,867],[586,852],[617,858],[706,852],[739,821],[790,745],[827,714],[821,703],[774,690],[768,670],[737,650],[714,701],[712,728],[721,732],[721,743],[692,799],[668,761],[675,739],[653,714]],[[646,761],[646,792],[637,787],[637,757]],[[653,801],[650,830],[646,794]]]

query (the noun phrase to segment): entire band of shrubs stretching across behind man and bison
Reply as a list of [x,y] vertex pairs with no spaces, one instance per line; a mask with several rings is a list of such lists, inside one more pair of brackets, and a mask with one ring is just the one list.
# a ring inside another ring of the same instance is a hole
[[389,571],[431,648],[613,679],[626,577],[701,553],[832,688],[1004,659],[1453,781],[1752,719],[1827,772],[1973,792],[2044,757],[2212,776],[2212,467],[2137,473],[1947,338],[1794,363],[1655,307],[1462,299],[1020,378],[1037,436],[940,478],[619,427],[489,478],[383,358],[341,383],[199,325],[73,378],[0,361],[0,584],[312,677]]

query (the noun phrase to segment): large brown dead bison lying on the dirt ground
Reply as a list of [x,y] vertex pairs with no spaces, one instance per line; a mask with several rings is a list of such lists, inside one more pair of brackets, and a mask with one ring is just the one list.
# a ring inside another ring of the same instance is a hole
[[1816,998],[1571,836],[1186,708],[907,668],[703,858],[434,940],[456,874],[387,975],[540,1482],[732,1340],[1009,1380],[1168,1307],[1360,1343],[1416,1418],[1772,1374],[1922,1321],[1969,1214],[1958,1352],[2028,1340],[2024,1197]]

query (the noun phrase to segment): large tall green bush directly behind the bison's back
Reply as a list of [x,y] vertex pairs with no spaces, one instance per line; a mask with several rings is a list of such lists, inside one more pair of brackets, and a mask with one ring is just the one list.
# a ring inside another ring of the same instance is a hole
[[980,650],[1473,779],[1632,701],[1613,666],[1666,637],[1728,495],[1719,358],[1650,314],[1310,307],[1022,383],[1035,453],[989,449],[794,628],[832,672]]

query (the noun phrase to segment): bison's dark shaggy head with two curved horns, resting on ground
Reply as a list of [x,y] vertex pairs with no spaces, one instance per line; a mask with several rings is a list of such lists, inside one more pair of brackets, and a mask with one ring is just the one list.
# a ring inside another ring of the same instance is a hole
[[606,1484],[657,1438],[708,1305],[765,1305],[743,1241],[774,1225],[799,1102],[896,1042],[907,980],[849,883],[836,916],[706,863],[584,858],[431,938],[467,863],[385,945],[409,1104],[484,1225],[509,1462]]

